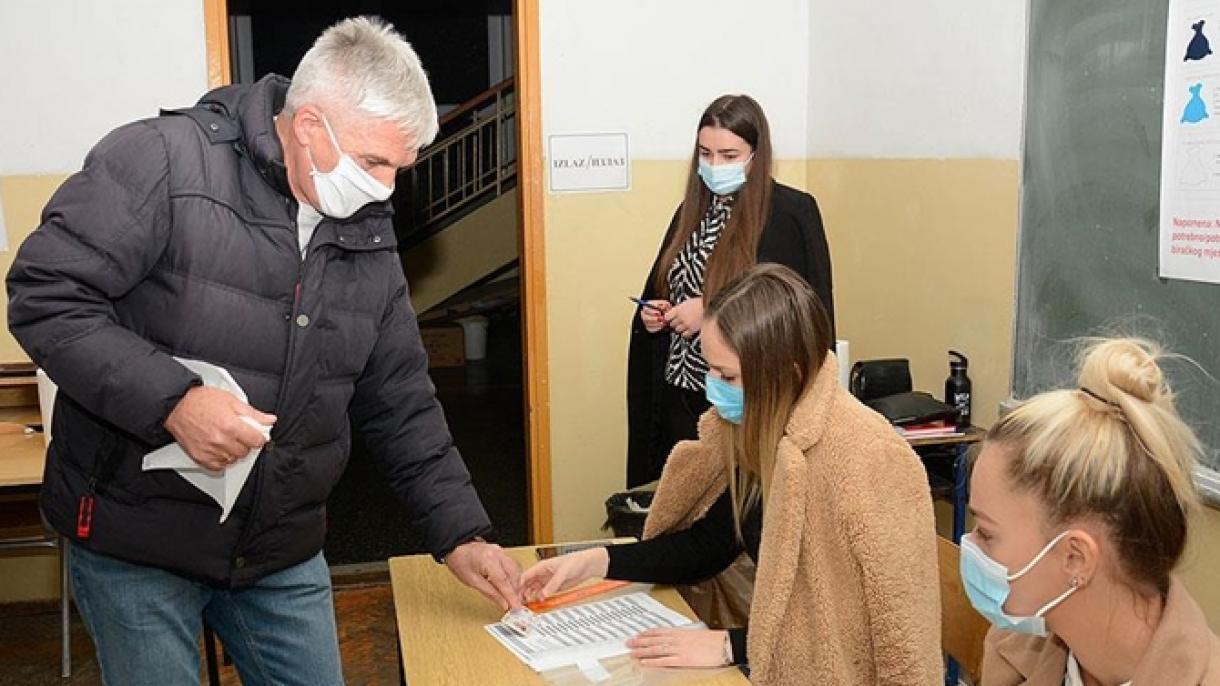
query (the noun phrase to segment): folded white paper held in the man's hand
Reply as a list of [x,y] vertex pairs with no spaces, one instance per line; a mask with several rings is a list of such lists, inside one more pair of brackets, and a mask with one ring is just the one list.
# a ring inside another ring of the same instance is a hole
[[[204,381],[204,386],[227,391],[237,395],[243,403],[249,402],[245,391],[242,391],[242,387],[233,380],[233,375],[224,367],[199,360],[184,360],[182,358],[174,358],[174,360],[178,360],[182,366],[198,374]],[[259,430],[264,438],[271,438],[270,426],[259,424],[248,416],[243,416],[242,420]],[[255,448],[226,469],[212,471],[190,459],[190,455],[178,443],[170,443],[144,455],[144,471],[154,469],[172,469],[177,471],[195,488],[199,488],[211,499],[216,500],[216,504],[221,507],[221,524],[224,524],[229,511],[233,510],[233,503],[237,502],[238,494],[242,493],[242,486],[250,477],[250,471],[254,469],[254,461],[257,459],[259,452],[260,448]]]

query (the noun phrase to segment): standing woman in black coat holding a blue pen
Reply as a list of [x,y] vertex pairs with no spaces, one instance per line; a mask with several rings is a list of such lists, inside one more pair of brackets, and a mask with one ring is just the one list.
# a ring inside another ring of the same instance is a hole
[[759,262],[800,275],[831,319],[831,258],[814,197],[772,177],[771,131],[749,95],[721,95],[699,117],[686,197],[644,282],[627,358],[627,487],[660,477],[710,406],[699,330],[704,298]]

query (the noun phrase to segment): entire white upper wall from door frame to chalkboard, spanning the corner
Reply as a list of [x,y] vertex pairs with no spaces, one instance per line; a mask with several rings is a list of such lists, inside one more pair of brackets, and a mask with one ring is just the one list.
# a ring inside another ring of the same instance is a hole
[[540,2],[545,133],[627,131],[684,159],[716,95],[755,96],[777,156],[1020,156],[1020,0]]

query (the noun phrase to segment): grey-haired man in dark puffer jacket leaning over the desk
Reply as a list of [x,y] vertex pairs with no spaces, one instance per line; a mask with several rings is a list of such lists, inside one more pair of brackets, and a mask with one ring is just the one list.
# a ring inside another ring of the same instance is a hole
[[[395,175],[436,133],[411,46],[346,20],[290,83],[220,88],[106,135],[21,247],[9,323],[60,387],[41,508],[72,542],[106,684],[198,684],[204,619],[245,684],[343,681],[321,551],[349,420],[427,549],[520,604],[395,249]],[[179,360],[223,367],[246,399]],[[212,474],[254,460],[229,511],[142,469],[170,443]]]

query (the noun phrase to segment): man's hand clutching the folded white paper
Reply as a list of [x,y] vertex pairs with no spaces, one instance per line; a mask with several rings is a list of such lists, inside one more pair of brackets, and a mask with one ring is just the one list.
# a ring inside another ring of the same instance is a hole
[[187,391],[166,417],[165,428],[190,459],[221,471],[267,442],[242,417],[264,426],[276,424],[274,415],[260,413],[232,393],[196,386]]

